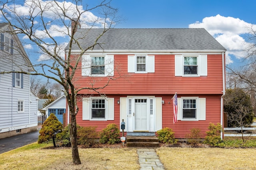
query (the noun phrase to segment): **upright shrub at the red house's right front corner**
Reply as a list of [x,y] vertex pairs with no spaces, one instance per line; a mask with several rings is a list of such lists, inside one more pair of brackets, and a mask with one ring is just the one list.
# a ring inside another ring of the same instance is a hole
[[204,138],[204,143],[216,146],[218,143],[221,142],[220,132],[222,131],[222,126],[220,125],[220,123],[217,123],[217,125],[210,123],[208,129],[210,131],[206,132],[207,135]]

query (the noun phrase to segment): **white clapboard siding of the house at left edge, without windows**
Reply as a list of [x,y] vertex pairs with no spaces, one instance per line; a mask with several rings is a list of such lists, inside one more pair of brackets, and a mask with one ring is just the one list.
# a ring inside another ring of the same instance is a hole
[[[15,36],[15,35],[14,35]],[[14,40],[15,41],[15,40]],[[14,42],[14,44],[16,44]],[[15,48],[14,48],[15,49]],[[14,50],[14,55],[0,50],[0,72],[24,70],[25,59]],[[37,125],[36,97],[30,96],[30,76],[23,75],[23,88],[12,86],[12,73],[0,74],[0,133]],[[24,112],[18,113],[18,100],[24,101]],[[30,103],[30,100],[32,101]],[[32,105],[31,105],[32,104]]]

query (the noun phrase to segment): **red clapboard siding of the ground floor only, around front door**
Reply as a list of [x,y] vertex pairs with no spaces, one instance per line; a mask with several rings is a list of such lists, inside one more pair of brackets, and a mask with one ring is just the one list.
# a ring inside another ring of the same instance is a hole
[[[186,96],[195,96],[195,95],[186,95]],[[120,105],[117,104],[117,100],[120,100],[120,97],[124,96],[112,96],[109,97],[115,98],[114,103],[114,120],[112,121],[89,121],[82,120],[82,109],[79,110],[76,115],[77,124],[80,126],[97,126],[97,131],[101,131],[108,124],[115,123],[120,126]],[[156,96],[159,97],[159,96]],[[178,95],[180,97],[180,95]],[[206,98],[206,120],[205,121],[180,121],[178,123],[173,123],[173,107],[172,107],[172,96],[162,96],[162,99],[165,101],[165,104],[162,105],[162,127],[172,128],[175,132],[175,138],[185,138],[186,134],[190,133],[190,129],[199,128],[201,133],[206,135],[208,131],[209,123],[220,123],[220,95],[200,95],[200,98]],[[168,103],[170,102],[170,104]],[[82,102],[78,102],[78,107],[82,108]]]

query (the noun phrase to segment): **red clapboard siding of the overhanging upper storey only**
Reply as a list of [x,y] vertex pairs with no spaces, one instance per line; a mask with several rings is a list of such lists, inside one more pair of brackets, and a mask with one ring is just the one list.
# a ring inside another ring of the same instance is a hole
[[[174,55],[155,55],[155,72],[146,74],[127,73],[127,55],[115,55],[114,78],[120,72],[122,78],[111,80],[99,90],[105,94],[222,94],[222,55],[208,55],[208,76],[174,76]],[[100,87],[106,84],[106,77],[82,77],[81,69],[76,72],[78,86]],[[88,90],[80,94],[93,93]]]

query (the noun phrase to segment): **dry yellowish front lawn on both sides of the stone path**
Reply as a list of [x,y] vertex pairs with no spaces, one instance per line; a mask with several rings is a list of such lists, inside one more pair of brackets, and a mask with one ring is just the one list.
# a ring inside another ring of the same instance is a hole
[[[157,154],[166,170],[256,170],[253,149],[160,147]],[[0,154],[4,170],[139,170],[136,149],[79,148],[82,164],[73,165],[70,148],[33,143]]]

